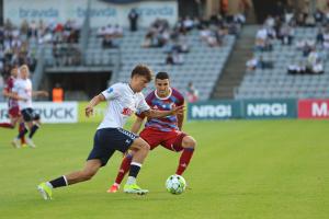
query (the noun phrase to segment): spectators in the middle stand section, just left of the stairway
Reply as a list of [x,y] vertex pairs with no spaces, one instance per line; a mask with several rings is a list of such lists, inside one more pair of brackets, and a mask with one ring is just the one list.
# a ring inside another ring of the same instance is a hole
[[183,54],[190,51],[188,34],[192,31],[198,32],[200,41],[208,47],[220,47],[224,45],[226,35],[238,35],[246,18],[242,14],[211,16],[209,20],[197,18],[181,18],[174,26],[170,26],[167,20],[158,19],[148,28],[141,47],[163,48],[167,54],[167,65],[182,65]]

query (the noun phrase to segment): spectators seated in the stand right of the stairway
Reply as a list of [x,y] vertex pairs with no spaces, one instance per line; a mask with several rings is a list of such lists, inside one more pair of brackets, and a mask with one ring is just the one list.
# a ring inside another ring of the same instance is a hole
[[[281,4],[281,3],[279,3]],[[304,59],[292,62],[287,66],[287,72],[291,74],[320,74],[324,73],[324,62],[329,56],[329,11],[317,9],[311,13],[306,9],[295,13],[290,5],[280,5],[282,10],[277,14],[269,15],[264,24],[256,34],[256,53],[271,53],[279,41],[283,46],[292,46],[293,49],[300,51]],[[317,31],[311,36],[296,37],[296,27],[314,27]],[[273,67],[274,60],[263,60],[262,57],[252,57],[247,61],[247,68],[253,70],[263,68],[262,62],[272,62],[265,65],[266,68]]]

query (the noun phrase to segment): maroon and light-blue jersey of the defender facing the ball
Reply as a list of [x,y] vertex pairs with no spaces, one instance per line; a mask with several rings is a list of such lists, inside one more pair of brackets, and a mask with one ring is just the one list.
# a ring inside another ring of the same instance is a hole
[[[146,96],[147,104],[157,111],[171,111],[173,106],[180,106],[184,104],[183,95],[175,89],[170,89],[170,94],[167,97],[159,97],[157,91],[150,92]],[[144,117],[143,114],[136,114],[139,117]],[[145,124],[146,128],[152,128],[160,131],[178,130],[178,118],[175,115],[169,115],[163,118],[150,118]]]

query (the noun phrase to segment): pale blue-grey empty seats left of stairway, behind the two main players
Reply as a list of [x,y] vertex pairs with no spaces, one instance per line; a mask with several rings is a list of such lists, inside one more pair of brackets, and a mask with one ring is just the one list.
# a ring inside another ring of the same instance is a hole
[[200,100],[207,100],[232,48],[235,36],[225,36],[222,47],[208,47],[201,42],[198,31],[192,31],[186,36],[190,53],[184,54],[184,62],[166,65],[167,54],[163,48],[140,46],[145,34],[145,30],[125,33],[121,42],[122,68],[116,81],[127,80],[133,67],[143,62],[149,65],[155,72],[169,72],[172,87],[181,91],[185,91],[189,81],[193,81],[200,92]]

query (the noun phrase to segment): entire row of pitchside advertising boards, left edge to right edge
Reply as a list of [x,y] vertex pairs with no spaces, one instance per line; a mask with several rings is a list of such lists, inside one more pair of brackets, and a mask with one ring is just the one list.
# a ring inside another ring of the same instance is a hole
[[[35,112],[43,123],[100,123],[105,114],[106,103],[94,108],[87,118],[84,107],[88,102],[34,102]],[[245,100],[245,101],[205,101],[189,104],[189,120],[217,119],[329,119],[329,99],[327,100]],[[134,118],[133,118],[134,119]],[[8,122],[7,103],[0,103],[0,123]]]

